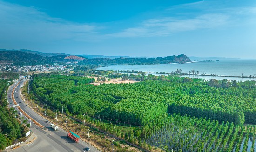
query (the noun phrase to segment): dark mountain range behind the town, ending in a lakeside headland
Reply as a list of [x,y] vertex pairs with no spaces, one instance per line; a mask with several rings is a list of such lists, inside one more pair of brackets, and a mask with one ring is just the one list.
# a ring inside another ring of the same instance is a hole
[[[85,55],[68,55],[64,53],[41,53],[31,50],[4,50],[0,49],[0,61],[13,65],[39,65],[67,63],[77,61],[85,65],[120,65],[120,64],[170,64],[191,62],[184,54],[157,58],[84,58]],[[107,57],[107,56],[105,56]]]

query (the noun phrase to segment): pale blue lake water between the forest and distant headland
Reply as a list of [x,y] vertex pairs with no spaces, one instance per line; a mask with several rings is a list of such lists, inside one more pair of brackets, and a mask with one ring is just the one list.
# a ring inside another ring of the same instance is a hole
[[256,60],[246,61],[218,61],[218,62],[195,62],[186,64],[162,64],[162,65],[113,65],[97,68],[98,70],[134,70],[143,72],[167,72],[171,73],[176,69],[181,69],[183,72],[188,73],[191,70],[199,71],[199,74],[215,74],[222,75],[223,77],[216,76],[189,76],[193,78],[209,79],[230,79],[230,80],[256,80],[255,78],[236,78],[225,77],[227,76],[254,76],[256,74]]

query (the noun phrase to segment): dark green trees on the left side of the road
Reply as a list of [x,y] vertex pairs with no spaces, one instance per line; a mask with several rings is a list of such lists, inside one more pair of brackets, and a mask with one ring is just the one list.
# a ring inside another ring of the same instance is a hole
[[5,94],[8,89],[7,84],[7,80],[0,80],[0,149],[5,149],[7,142],[8,145],[12,145],[16,139],[23,140],[28,131],[28,128],[21,125],[15,118],[17,111],[7,107],[8,102]]

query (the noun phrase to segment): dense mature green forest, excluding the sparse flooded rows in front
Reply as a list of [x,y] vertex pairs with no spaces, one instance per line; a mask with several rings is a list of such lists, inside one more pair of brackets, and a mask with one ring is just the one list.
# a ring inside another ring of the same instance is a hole
[[186,79],[169,76],[164,81],[93,86],[88,85],[95,81],[92,78],[36,76],[33,90],[54,108],[61,110],[64,106],[71,114],[87,112],[92,117],[102,114],[107,118],[116,116],[115,119],[133,120],[128,123],[136,122],[141,126],[164,112],[219,122],[256,124],[255,82],[236,82],[236,86],[223,88],[210,86],[210,81],[203,79]]

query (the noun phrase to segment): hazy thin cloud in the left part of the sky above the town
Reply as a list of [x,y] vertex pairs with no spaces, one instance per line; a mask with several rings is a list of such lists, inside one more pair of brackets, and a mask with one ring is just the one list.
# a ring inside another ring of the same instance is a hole
[[74,23],[53,18],[34,7],[0,1],[0,33],[17,41],[78,40],[91,41],[102,26]]

